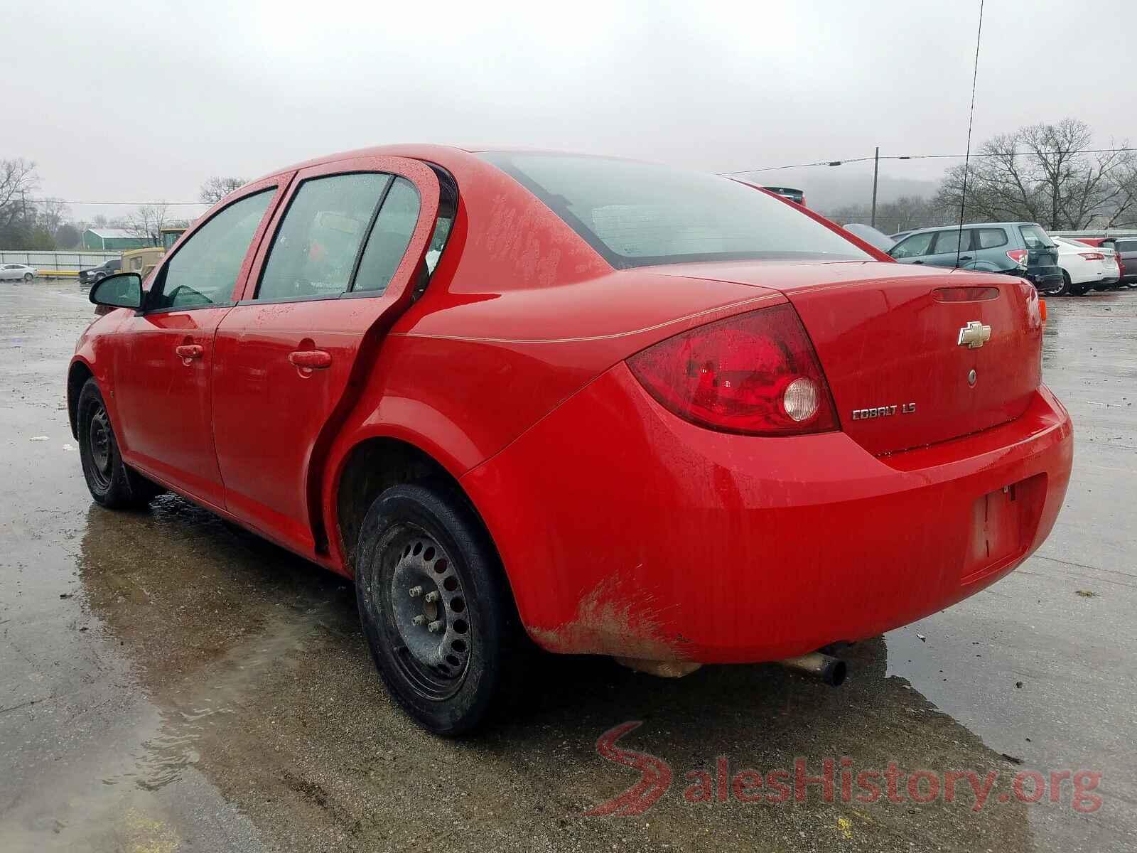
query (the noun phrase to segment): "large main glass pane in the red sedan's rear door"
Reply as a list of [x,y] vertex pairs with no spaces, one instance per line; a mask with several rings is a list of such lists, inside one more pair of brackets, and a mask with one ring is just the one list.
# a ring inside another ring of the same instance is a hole
[[346,292],[390,180],[388,174],[360,172],[300,184],[276,231],[256,298],[312,299]]

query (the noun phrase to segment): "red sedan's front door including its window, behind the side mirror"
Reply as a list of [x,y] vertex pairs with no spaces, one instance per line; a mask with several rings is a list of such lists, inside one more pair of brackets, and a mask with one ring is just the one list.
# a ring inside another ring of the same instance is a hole
[[127,463],[224,506],[214,452],[214,333],[267,225],[275,183],[258,185],[201,224],[159,270],[143,310],[116,336],[117,432]]

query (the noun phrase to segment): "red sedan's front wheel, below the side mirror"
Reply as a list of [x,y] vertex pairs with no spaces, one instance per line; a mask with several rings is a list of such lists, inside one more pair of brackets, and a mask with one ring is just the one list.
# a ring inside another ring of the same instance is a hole
[[96,503],[109,510],[136,508],[161,494],[161,487],[123,462],[102,392],[93,378],[80,391],[76,423],[83,478]]

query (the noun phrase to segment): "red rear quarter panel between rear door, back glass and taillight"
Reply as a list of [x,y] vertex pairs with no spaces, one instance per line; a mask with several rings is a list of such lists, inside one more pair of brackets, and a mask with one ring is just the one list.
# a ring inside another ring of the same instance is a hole
[[470,155],[441,165],[459,188],[454,231],[333,442],[321,488],[327,530],[338,530],[330,497],[359,442],[407,441],[458,478],[629,355],[785,301],[750,284],[615,272],[495,167]]

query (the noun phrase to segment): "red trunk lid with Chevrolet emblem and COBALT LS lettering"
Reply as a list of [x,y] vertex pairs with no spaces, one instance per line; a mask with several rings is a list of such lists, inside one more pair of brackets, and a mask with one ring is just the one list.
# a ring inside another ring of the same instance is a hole
[[785,293],[813,340],[841,429],[877,455],[1012,421],[1041,380],[1038,295],[1015,276],[888,263],[683,266]]

